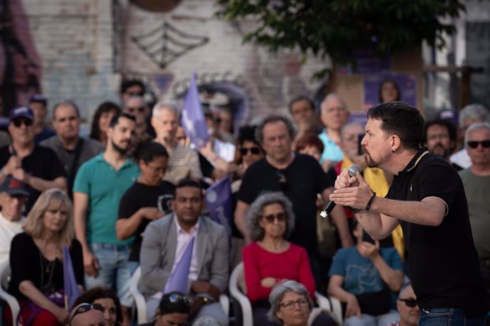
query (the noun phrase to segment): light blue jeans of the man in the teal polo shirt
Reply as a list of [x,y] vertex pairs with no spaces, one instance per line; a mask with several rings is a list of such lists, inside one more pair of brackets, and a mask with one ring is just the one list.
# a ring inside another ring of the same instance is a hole
[[129,292],[128,259],[131,248],[126,245],[109,245],[106,243],[89,244],[92,253],[99,260],[99,274],[97,277],[85,275],[85,286],[87,290],[96,286],[114,288],[117,292],[121,305],[131,307],[133,296]]

